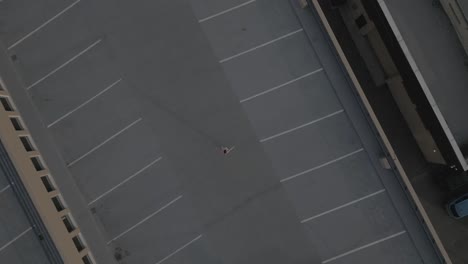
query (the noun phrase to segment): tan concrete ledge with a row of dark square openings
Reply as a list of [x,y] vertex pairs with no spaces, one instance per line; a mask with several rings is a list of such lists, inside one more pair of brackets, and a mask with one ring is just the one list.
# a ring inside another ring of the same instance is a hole
[[[44,248],[48,250],[51,263],[82,264],[82,258],[85,255],[93,260],[93,263],[95,263],[94,260],[100,263],[113,263],[111,256],[106,254],[108,251],[105,243],[100,238],[90,213],[87,212],[87,215],[83,213],[83,211],[87,211],[87,209],[84,209],[85,206],[81,206],[80,209],[83,209],[78,211],[70,210],[70,208],[76,208],[75,201],[80,197],[76,193],[76,187],[70,183],[66,185],[58,184],[63,181],[52,177],[51,174],[66,175],[67,172],[58,172],[54,164],[50,164],[54,160],[61,161],[60,158],[51,159],[50,155],[44,155],[43,150],[46,150],[45,152],[48,154],[47,150],[50,149],[53,143],[44,143],[42,137],[47,132],[41,133],[38,131],[44,128],[42,125],[37,125],[38,118],[34,116],[35,109],[31,106],[29,96],[2,47],[0,47],[0,84],[2,86],[2,97],[7,98],[10,105],[13,106],[13,111],[7,111],[0,105],[0,139],[7,153],[6,155],[11,161],[10,171],[16,175],[17,181],[24,185],[23,195],[29,197],[31,201],[29,209],[25,210],[34,209],[34,211],[37,211],[35,215],[36,222],[40,222],[43,227],[39,234],[45,240],[48,239],[47,247]],[[21,123],[20,127],[22,129],[15,128],[10,117],[16,117],[18,122]],[[34,149],[27,151],[19,136],[27,136]],[[34,157],[37,157],[35,163],[31,160]],[[41,179],[42,176],[53,178],[52,190],[47,188]],[[52,198],[56,199],[56,201],[52,201]],[[57,201],[59,201],[58,205],[55,203]],[[73,206],[69,206],[70,204]],[[67,230],[68,227],[65,226],[62,220],[64,216],[73,219],[72,232]],[[83,218],[87,220],[84,224],[82,224]],[[75,219],[79,221],[75,221]],[[92,224],[88,224],[89,222]],[[91,232],[89,232],[90,229],[92,229]],[[86,234],[82,234],[83,230],[91,234],[89,243],[86,241]],[[76,232],[78,234],[75,234]],[[82,244],[83,249],[80,251],[72,240],[76,236],[78,236]],[[98,258],[94,256],[93,253],[95,252]]]

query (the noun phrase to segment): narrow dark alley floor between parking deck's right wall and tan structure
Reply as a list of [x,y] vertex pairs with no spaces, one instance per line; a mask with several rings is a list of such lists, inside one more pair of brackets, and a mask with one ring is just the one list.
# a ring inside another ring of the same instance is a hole
[[[329,20],[334,23],[335,33],[341,33],[341,41],[343,43],[350,42],[351,40],[346,38],[346,34],[342,33],[346,28],[344,24],[340,24],[340,19],[332,16],[330,12]],[[443,187],[444,184],[440,184],[443,183],[441,181],[444,176],[443,170],[434,165],[431,166],[424,159],[390,92],[384,87],[375,86],[372,79],[370,79],[369,73],[362,67],[364,63],[357,58],[360,55],[353,48],[352,45],[346,46],[348,59],[353,63],[354,71],[360,76],[366,96],[371,102],[450,259],[457,264],[467,263],[468,255],[465,250],[468,247],[467,221],[464,219],[454,220],[449,217],[445,210],[445,203],[449,200],[450,195]],[[370,81],[366,81],[366,78]]]

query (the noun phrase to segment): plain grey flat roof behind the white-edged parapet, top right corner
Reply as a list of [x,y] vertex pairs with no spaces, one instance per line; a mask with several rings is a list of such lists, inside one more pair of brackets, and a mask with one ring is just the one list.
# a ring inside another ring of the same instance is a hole
[[464,113],[468,112],[468,74],[466,55],[455,29],[436,1],[385,2],[466,156],[468,125]]

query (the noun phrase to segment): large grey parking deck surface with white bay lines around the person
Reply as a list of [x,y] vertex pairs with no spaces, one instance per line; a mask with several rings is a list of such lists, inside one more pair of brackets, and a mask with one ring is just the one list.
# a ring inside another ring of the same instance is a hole
[[82,0],[9,49],[85,238],[122,263],[437,263],[313,14],[242,3]]

